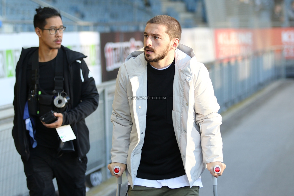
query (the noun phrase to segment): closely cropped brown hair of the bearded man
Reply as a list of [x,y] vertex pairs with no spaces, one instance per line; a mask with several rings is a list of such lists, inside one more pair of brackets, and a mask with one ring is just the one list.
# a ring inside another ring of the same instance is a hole
[[177,19],[175,19],[174,17],[167,15],[158,15],[151,18],[146,24],[148,23],[164,25],[166,27],[165,33],[170,36],[170,40],[174,38],[178,38],[179,40],[181,40],[182,27],[179,21],[177,21]]

